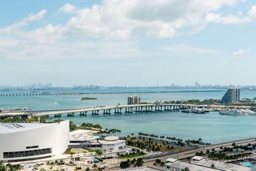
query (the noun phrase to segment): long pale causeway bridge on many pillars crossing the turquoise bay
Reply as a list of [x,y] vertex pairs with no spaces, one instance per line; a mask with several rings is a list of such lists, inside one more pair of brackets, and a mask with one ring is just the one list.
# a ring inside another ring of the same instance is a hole
[[[129,113],[159,113],[172,112],[191,108],[211,109],[211,110],[227,110],[229,108],[224,105],[195,105],[195,104],[132,104],[132,105],[116,105],[116,106],[97,106],[85,108],[72,108],[64,110],[22,110],[22,111],[2,111],[0,118],[10,117],[40,117],[40,116],[54,116],[61,117],[62,115],[121,115]],[[248,109],[250,107],[239,106],[239,109]]]

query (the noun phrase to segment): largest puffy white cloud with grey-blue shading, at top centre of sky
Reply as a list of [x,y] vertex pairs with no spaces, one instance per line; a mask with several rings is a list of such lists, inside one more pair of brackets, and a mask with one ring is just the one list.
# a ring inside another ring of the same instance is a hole
[[[72,34],[124,40],[132,36],[174,37],[201,31],[205,15],[239,0],[105,0],[77,10],[65,25]],[[65,5],[66,6],[66,5]],[[64,6],[64,7],[65,7]],[[69,7],[70,5],[67,5]],[[63,8],[63,7],[62,7]],[[72,7],[70,7],[72,8]]]

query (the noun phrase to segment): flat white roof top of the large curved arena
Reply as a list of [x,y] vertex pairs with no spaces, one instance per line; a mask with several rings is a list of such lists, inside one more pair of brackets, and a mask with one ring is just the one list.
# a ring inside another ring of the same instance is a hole
[[49,124],[39,123],[0,123],[0,133],[15,133],[23,130],[31,130],[38,127],[45,127]]

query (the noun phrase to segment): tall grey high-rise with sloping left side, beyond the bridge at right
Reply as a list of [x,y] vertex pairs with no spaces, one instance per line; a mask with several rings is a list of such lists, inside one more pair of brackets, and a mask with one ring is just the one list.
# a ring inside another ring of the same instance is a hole
[[228,89],[223,98],[221,98],[221,104],[233,104],[240,101],[240,89]]

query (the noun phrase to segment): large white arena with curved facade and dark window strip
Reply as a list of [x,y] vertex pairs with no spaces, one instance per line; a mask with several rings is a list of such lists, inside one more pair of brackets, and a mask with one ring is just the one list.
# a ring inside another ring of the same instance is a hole
[[0,124],[0,161],[56,157],[68,148],[69,121]]

